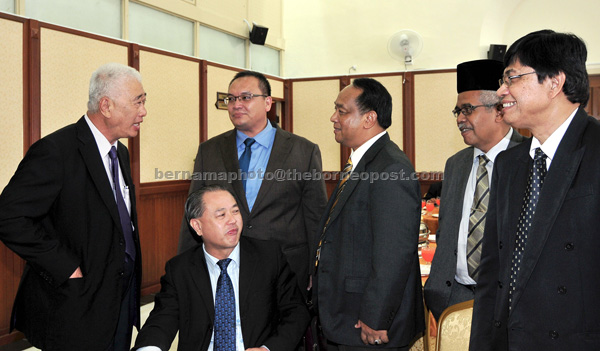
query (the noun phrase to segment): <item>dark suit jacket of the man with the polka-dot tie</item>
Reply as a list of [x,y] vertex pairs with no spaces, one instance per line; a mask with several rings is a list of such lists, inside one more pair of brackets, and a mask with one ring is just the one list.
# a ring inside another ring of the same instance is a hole
[[531,141],[496,159],[471,350],[600,350],[600,124],[583,108],[544,179],[508,309]]

